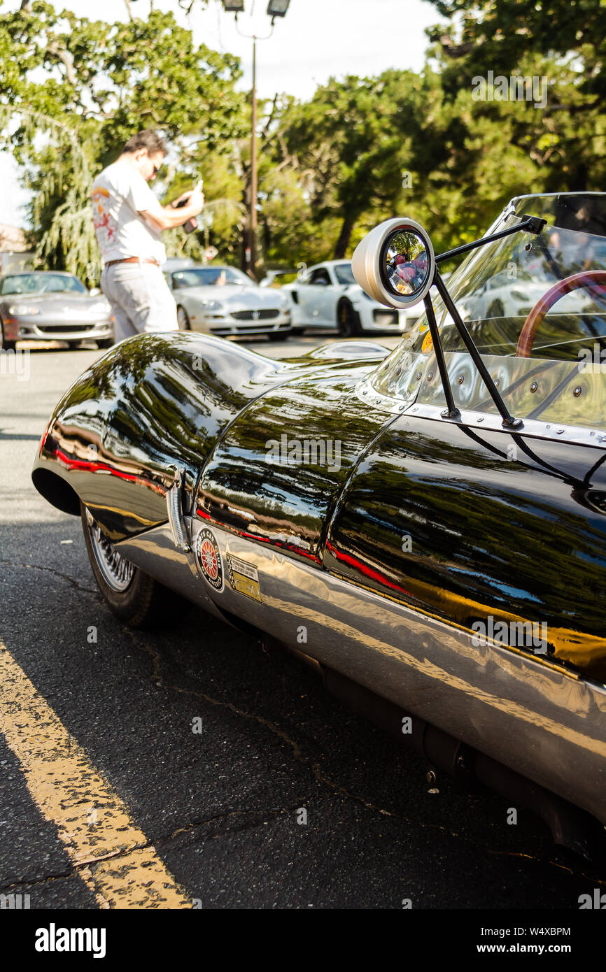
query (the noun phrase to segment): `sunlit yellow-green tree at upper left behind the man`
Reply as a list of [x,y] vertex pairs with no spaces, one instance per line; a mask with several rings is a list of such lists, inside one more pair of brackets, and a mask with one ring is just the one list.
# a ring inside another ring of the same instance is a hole
[[[172,14],[126,23],[57,14],[44,0],[0,16],[4,145],[34,192],[32,236],[41,259],[89,282],[98,276],[89,218],[94,175],[133,131],[159,129],[184,174],[212,169],[242,133],[244,99],[232,54],[196,48]],[[174,165],[165,172],[171,192]],[[177,239],[173,234],[173,243]],[[179,248],[199,247],[194,238]]]

